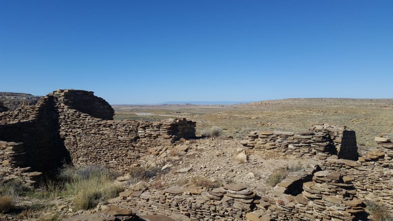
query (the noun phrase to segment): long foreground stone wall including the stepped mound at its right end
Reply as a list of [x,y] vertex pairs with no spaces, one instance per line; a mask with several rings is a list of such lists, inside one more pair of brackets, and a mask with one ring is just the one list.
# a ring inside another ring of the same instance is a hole
[[259,196],[239,184],[205,189],[170,187],[164,191],[125,191],[110,204],[144,214],[182,214],[191,220],[353,221],[367,217],[352,178],[314,170],[295,195]]

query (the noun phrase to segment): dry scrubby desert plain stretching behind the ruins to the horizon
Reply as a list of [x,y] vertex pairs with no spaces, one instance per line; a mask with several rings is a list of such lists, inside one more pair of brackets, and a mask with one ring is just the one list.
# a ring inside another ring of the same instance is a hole
[[283,99],[241,105],[114,105],[115,119],[158,121],[186,117],[197,132],[219,126],[224,136],[244,138],[254,130],[302,131],[314,123],[355,130],[359,150],[374,148],[374,137],[393,137],[393,99]]

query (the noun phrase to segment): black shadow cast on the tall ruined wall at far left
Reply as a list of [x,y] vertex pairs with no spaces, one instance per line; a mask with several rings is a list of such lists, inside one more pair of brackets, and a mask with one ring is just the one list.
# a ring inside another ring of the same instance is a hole
[[[59,135],[58,112],[54,97],[48,97],[33,121],[0,125],[0,140],[23,142],[26,154],[15,154],[15,161],[24,162],[24,167],[34,171],[56,173],[71,157]],[[23,158],[23,159],[21,159]]]

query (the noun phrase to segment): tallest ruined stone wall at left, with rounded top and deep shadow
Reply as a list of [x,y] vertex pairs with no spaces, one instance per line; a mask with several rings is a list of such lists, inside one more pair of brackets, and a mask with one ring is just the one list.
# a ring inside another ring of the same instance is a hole
[[112,119],[112,107],[92,92],[57,90],[33,107],[0,113],[0,140],[23,143],[26,154],[12,154],[13,168],[56,172],[63,163],[125,170],[148,155],[158,155],[179,138],[195,137],[196,123],[185,118]]

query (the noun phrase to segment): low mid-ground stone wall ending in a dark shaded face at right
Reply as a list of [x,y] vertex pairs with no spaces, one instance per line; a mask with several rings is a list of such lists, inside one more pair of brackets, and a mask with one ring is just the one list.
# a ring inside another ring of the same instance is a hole
[[345,127],[314,125],[305,132],[253,131],[244,140],[243,146],[254,151],[276,153],[291,159],[326,159],[337,155],[342,159],[358,159],[358,148],[354,131]]

